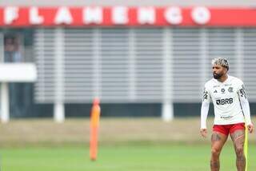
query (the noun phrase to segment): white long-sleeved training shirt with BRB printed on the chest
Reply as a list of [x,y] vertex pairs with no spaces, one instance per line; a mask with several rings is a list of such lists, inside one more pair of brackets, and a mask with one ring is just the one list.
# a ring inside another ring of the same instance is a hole
[[250,107],[243,82],[228,75],[225,82],[212,78],[206,82],[202,97],[201,128],[206,128],[210,100],[214,104],[214,125],[245,122],[251,124]]

